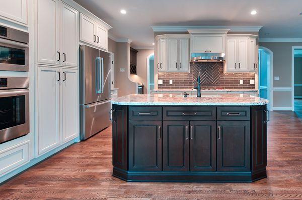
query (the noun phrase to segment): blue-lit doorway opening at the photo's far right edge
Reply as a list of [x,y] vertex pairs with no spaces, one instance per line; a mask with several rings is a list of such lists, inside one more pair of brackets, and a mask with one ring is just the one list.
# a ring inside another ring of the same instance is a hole
[[302,118],[302,47],[292,47],[293,110]]

